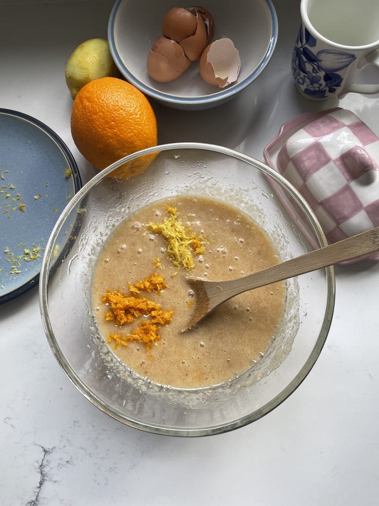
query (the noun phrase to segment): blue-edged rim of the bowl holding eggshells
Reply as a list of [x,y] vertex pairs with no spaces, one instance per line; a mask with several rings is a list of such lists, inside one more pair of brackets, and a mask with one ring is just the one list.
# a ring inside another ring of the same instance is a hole
[[175,97],[173,95],[170,95],[169,93],[162,93],[158,90],[154,90],[150,86],[145,85],[142,81],[137,79],[124,65],[124,62],[120,58],[117,47],[116,47],[116,40],[115,40],[115,21],[118,13],[118,9],[121,5],[121,3],[124,0],[116,0],[116,3],[114,4],[109,21],[108,21],[108,43],[111,50],[112,58],[114,62],[116,63],[118,69],[120,72],[124,75],[124,77],[138,90],[140,90],[142,93],[145,93],[145,95],[148,95],[149,97],[152,97],[156,100],[159,100],[161,102],[167,102],[170,104],[175,105],[205,105],[205,104],[212,104],[214,102],[218,102],[219,100],[226,100],[228,98],[231,98],[235,94],[242,91],[244,88],[249,86],[265,69],[266,65],[270,61],[275,46],[277,42],[278,37],[278,21],[276,16],[275,8],[271,2],[271,0],[265,0],[270,17],[271,17],[271,23],[272,23],[272,33],[270,38],[270,43],[267,47],[266,54],[262,58],[261,62],[257,66],[257,68],[248,75],[245,79],[243,79],[241,82],[236,83],[235,85],[227,88],[226,90],[220,91],[218,93],[214,93],[212,95],[206,95],[202,97]]

